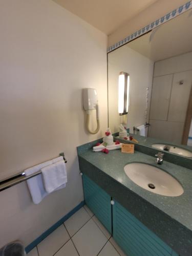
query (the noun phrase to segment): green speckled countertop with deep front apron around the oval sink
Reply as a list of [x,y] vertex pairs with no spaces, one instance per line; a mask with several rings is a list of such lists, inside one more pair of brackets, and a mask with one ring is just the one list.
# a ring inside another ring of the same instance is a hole
[[[192,171],[166,161],[158,165],[155,157],[137,151],[126,154],[115,150],[106,155],[93,152],[91,147],[91,143],[78,147],[81,172],[98,183],[180,255],[192,255]],[[132,162],[147,163],[165,170],[181,183],[184,193],[179,197],[166,197],[141,188],[124,172],[124,166]]]

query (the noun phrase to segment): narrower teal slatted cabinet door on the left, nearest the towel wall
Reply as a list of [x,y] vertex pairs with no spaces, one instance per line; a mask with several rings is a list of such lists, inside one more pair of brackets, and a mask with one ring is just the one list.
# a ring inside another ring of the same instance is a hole
[[83,174],[84,200],[96,217],[112,233],[111,197],[94,181]]

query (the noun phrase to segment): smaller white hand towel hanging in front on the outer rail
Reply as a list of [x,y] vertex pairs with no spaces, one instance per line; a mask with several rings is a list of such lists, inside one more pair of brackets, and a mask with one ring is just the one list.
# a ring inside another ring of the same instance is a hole
[[67,183],[66,164],[63,160],[41,168],[41,173],[47,193]]

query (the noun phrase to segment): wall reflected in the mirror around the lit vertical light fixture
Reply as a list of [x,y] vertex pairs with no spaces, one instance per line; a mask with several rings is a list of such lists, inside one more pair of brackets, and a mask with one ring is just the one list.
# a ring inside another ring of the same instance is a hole
[[[108,54],[109,126],[118,132],[122,117],[118,114],[118,77],[121,71],[130,74],[130,106],[127,114],[127,128],[145,122],[146,88],[151,98],[154,62],[126,45]],[[148,102],[148,108],[150,101]]]

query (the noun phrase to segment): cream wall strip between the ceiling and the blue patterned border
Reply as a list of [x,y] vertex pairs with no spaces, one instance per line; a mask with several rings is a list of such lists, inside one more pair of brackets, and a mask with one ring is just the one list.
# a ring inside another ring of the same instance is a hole
[[144,26],[154,22],[157,18],[162,17],[181,5],[185,4],[186,0],[159,0],[153,5],[140,12],[134,18],[127,20],[116,31],[111,33],[108,37],[108,46],[114,45],[116,42],[122,40],[135,31],[143,28]]

